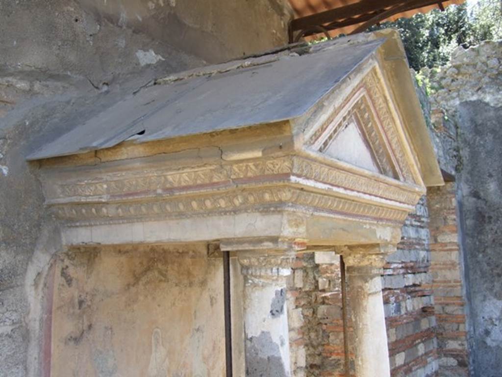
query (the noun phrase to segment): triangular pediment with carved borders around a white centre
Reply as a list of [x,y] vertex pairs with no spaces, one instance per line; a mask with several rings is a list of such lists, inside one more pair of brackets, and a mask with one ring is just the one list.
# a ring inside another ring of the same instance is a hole
[[307,144],[308,149],[372,173],[421,182],[399,115],[376,68],[311,131]]

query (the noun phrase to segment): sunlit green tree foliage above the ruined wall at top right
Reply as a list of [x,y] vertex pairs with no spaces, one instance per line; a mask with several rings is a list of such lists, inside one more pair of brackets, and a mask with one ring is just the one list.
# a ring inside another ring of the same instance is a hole
[[[470,9],[469,9],[470,8]],[[433,10],[371,30],[395,28],[403,39],[410,66],[416,71],[446,64],[457,46],[468,48],[488,39],[502,38],[502,0],[479,0]]]

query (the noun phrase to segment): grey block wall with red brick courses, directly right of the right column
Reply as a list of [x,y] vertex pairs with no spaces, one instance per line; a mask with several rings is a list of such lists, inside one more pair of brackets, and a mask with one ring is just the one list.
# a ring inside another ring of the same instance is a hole
[[428,212],[423,197],[384,267],[382,288],[391,374],[425,377],[438,369],[431,290]]

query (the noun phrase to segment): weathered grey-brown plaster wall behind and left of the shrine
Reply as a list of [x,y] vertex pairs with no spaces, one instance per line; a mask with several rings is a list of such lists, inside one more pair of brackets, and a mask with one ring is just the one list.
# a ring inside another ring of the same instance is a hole
[[283,44],[288,17],[276,0],[0,1],[0,376],[27,375],[42,297],[25,284],[43,285],[52,224],[25,156],[156,77]]

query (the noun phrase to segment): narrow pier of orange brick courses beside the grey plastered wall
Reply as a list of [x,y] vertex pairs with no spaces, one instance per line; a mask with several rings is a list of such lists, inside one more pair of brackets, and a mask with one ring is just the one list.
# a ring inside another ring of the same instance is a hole
[[427,191],[431,272],[437,319],[440,376],[468,376],[462,267],[458,243],[455,184]]

